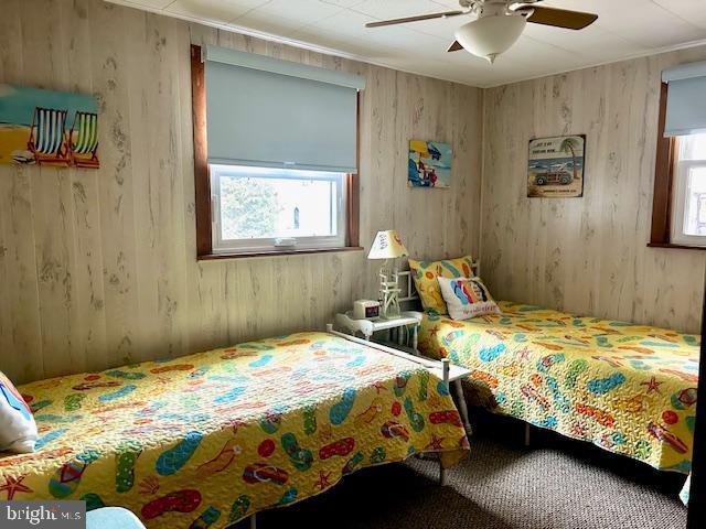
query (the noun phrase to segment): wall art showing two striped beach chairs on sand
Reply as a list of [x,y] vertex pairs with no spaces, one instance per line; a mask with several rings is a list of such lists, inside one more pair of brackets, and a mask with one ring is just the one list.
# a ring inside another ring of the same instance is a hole
[[98,169],[96,98],[0,84],[0,163]]

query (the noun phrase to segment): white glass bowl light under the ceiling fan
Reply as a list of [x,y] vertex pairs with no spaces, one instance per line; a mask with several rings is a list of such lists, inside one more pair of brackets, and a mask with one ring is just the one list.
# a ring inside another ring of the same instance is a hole
[[527,20],[521,14],[481,17],[456,30],[456,40],[466,51],[492,64],[517,42],[526,24]]

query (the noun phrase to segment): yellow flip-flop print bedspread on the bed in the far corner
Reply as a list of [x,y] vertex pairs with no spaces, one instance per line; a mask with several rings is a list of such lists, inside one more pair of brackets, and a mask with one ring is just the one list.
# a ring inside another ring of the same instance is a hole
[[419,349],[471,369],[475,403],[689,472],[699,336],[499,305],[463,322],[425,315]]

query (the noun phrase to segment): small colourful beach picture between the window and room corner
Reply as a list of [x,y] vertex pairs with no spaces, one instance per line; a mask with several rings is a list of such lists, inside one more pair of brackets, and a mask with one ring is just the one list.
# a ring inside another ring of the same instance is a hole
[[438,141],[409,140],[407,185],[409,187],[450,187],[451,145]]

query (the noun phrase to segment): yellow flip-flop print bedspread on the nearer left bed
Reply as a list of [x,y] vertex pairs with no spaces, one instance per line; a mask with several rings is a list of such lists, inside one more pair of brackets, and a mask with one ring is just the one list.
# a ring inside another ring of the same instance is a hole
[[19,390],[41,439],[0,456],[0,499],[122,506],[148,528],[225,527],[364,466],[468,449],[439,379],[325,333]]

